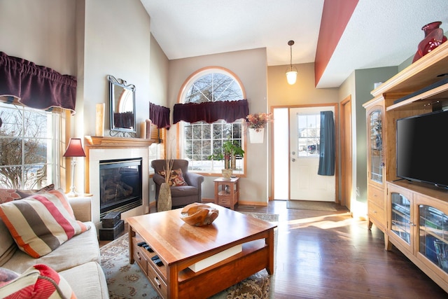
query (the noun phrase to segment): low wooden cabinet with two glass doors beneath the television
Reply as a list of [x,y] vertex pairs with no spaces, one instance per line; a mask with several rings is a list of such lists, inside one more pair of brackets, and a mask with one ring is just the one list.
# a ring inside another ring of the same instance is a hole
[[448,194],[423,183],[388,183],[389,240],[448,291]]

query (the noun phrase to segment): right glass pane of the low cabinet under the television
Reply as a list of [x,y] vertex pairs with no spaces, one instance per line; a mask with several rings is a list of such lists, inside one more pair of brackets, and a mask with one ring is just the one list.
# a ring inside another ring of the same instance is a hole
[[419,252],[448,273],[448,216],[419,205]]

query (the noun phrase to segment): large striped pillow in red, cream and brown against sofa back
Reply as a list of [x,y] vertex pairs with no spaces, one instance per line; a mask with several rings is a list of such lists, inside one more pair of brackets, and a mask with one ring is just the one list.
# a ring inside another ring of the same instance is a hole
[[0,217],[20,250],[45,256],[90,226],[76,221],[64,193],[50,190],[0,204]]

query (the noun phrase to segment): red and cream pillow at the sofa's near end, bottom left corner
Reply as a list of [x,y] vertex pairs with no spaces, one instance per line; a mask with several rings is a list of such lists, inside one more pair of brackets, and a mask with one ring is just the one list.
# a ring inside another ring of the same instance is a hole
[[76,299],[69,283],[48,265],[29,267],[19,277],[0,286],[0,298]]

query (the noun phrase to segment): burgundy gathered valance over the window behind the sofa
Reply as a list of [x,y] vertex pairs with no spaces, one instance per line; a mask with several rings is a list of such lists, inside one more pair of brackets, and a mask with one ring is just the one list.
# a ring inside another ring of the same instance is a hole
[[36,109],[62,108],[75,113],[76,77],[59,74],[22,58],[0,52],[0,98]]

